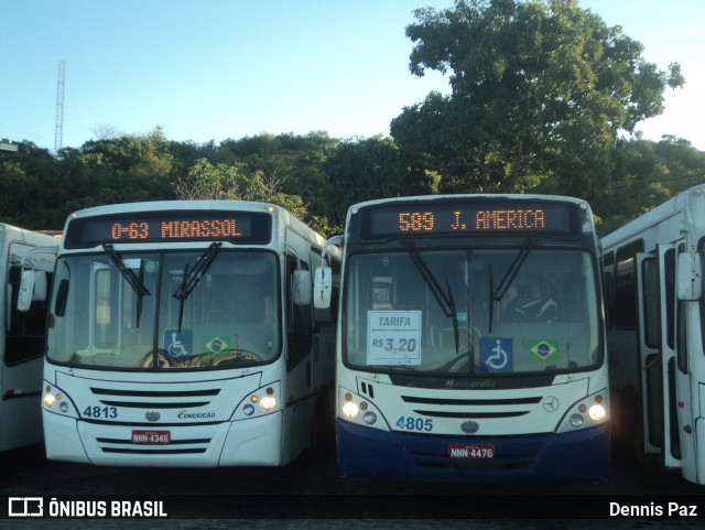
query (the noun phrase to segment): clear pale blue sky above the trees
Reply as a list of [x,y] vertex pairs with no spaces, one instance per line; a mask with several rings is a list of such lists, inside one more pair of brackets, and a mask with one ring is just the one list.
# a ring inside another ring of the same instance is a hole
[[[705,2],[578,0],[644,45],[685,87],[637,128],[705,151]],[[260,133],[389,136],[447,79],[409,71],[413,10],[453,0],[0,0],[0,140],[62,147],[106,130],[216,143]]]

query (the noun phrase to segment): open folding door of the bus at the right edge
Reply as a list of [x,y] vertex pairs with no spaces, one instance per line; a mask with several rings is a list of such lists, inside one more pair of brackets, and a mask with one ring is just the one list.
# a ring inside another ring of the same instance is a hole
[[[675,369],[675,246],[637,255],[644,451],[681,467]],[[687,389],[687,383],[685,385]]]

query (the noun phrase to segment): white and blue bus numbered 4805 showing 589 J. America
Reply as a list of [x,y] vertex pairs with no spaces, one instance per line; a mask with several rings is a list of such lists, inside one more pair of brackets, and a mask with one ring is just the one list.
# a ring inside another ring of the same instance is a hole
[[[606,478],[600,262],[585,202],[372,201],[349,209],[333,245],[344,246],[343,476]],[[316,306],[328,277],[315,271]]]

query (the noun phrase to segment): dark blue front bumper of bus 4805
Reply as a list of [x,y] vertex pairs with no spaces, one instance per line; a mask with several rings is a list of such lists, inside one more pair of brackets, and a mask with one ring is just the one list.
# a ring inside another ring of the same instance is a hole
[[[340,476],[452,482],[577,483],[605,480],[608,424],[561,434],[430,437],[337,420]],[[451,444],[492,444],[491,459],[452,458]]]

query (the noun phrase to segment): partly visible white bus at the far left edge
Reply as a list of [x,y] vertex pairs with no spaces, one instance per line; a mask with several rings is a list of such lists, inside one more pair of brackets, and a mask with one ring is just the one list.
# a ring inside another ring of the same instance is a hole
[[57,247],[54,237],[0,223],[0,451],[42,441],[42,355]]

